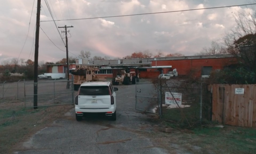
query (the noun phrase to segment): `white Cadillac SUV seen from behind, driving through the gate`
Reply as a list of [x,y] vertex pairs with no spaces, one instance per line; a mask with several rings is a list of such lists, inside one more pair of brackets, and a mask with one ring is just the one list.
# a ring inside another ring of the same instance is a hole
[[85,113],[103,113],[116,120],[116,94],[110,82],[84,82],[75,97],[75,117],[81,121]]

